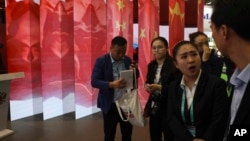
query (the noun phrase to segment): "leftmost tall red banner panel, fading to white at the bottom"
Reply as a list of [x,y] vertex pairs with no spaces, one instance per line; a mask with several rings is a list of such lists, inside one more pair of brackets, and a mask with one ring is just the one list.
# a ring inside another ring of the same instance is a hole
[[[11,120],[15,120],[42,112],[42,108],[36,109],[42,104],[40,11],[39,5],[31,0],[6,2],[8,72],[25,74],[10,85]],[[33,102],[38,104],[36,108]],[[20,108],[23,105],[26,108]]]

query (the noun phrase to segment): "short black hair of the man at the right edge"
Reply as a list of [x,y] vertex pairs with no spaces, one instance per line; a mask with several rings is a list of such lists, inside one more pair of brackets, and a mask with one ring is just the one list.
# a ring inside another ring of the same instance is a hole
[[226,25],[241,38],[250,40],[250,0],[216,0],[211,21],[216,28]]

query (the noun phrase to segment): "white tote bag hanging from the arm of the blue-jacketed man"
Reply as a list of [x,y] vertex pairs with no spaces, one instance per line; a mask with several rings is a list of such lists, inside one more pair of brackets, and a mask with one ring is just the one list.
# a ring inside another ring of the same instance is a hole
[[146,119],[143,116],[141,102],[138,96],[135,71],[133,73],[135,77],[135,89],[127,89],[126,92],[115,101],[115,104],[123,121],[128,121],[135,126],[144,127],[146,125]]

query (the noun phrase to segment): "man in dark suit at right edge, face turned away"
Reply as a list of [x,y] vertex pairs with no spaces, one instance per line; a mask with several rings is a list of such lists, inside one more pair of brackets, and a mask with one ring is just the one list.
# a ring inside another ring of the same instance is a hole
[[[247,9],[250,9],[249,0],[217,0],[211,16],[212,36],[217,48],[236,65],[230,79],[234,87],[231,90],[231,126],[226,133],[235,133],[235,126],[250,127],[250,11]],[[228,137],[230,141],[234,139],[236,137]],[[244,137],[238,140],[245,141]]]

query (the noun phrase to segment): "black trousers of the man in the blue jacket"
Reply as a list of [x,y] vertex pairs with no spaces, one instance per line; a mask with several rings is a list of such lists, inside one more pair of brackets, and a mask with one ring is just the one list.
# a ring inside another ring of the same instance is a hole
[[122,141],[131,141],[133,126],[129,122],[124,122],[119,116],[115,103],[112,104],[107,114],[103,113],[104,119],[104,141],[114,141],[116,126],[120,123]]

